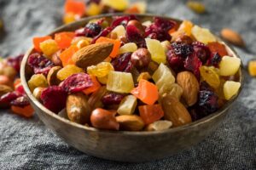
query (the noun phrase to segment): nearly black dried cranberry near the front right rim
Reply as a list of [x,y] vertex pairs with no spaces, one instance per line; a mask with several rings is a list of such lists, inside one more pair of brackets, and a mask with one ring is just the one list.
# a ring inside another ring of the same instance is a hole
[[212,91],[201,90],[199,92],[198,105],[201,113],[207,116],[218,110],[218,95]]

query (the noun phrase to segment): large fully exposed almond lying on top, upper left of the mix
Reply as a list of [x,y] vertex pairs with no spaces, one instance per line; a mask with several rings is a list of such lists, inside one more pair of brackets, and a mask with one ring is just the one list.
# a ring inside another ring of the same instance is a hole
[[113,50],[113,43],[100,42],[79,49],[73,54],[73,62],[81,68],[96,65],[106,59]]

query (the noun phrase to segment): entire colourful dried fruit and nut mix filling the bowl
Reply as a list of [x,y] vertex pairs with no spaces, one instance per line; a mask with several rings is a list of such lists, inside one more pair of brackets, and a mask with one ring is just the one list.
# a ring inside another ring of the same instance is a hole
[[241,86],[241,60],[188,20],[114,16],[33,42],[32,94],[100,129],[182,126],[218,111]]

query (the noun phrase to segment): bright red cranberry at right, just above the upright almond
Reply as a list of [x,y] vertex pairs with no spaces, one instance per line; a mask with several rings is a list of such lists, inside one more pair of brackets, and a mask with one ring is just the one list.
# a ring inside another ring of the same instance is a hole
[[188,71],[192,71],[195,74],[197,80],[200,79],[200,71],[199,68],[201,67],[202,63],[201,60],[195,54],[189,55],[184,62],[184,67]]

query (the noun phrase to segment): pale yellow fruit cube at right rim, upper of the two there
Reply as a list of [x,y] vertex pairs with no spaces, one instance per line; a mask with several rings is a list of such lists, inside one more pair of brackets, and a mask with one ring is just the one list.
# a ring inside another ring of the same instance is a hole
[[225,55],[219,63],[219,75],[228,77],[235,75],[241,65],[241,59]]

